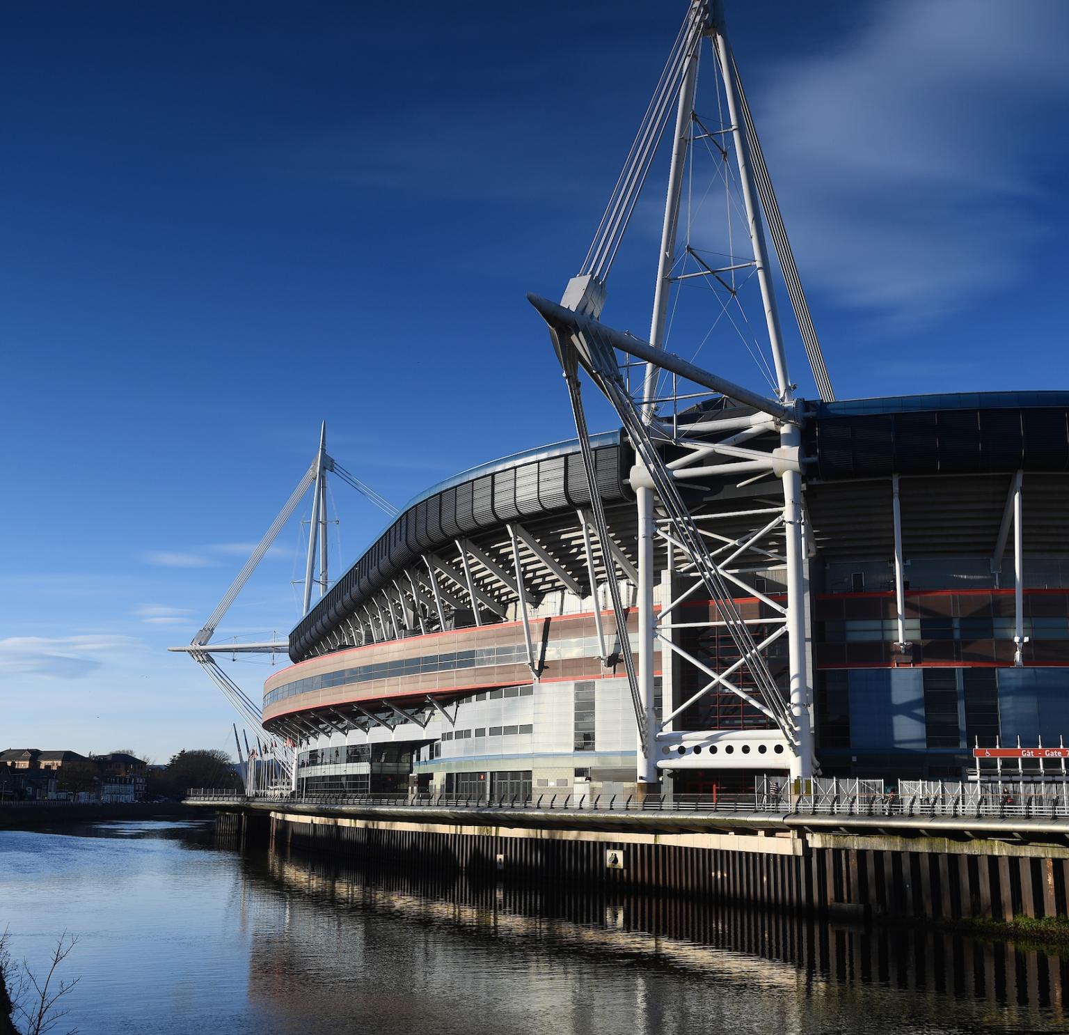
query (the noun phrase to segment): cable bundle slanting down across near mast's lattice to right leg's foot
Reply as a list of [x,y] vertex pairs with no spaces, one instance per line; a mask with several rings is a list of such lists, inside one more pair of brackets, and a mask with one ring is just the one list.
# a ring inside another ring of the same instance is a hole
[[[578,333],[576,330],[576,334]],[[624,390],[615,350],[590,326],[582,332],[582,339],[586,346],[584,352],[590,360],[589,369],[594,383],[620,416],[638,459],[650,473],[654,488],[661,498],[662,506],[671,518],[672,524],[680,535],[683,549],[691,557],[706,582],[737,650],[741,656],[748,658],[746,667],[753,674],[762,698],[766,700],[770,707],[776,707],[777,711],[783,710],[785,702],[781,691],[764,658],[760,655],[757,642],[750,635],[748,626],[734,605],[731,589],[719,567],[710,557],[700,532],[694,527],[690,512],[679,494],[671,473],[665,467],[649,436],[634,399]],[[576,349],[576,344],[572,344],[572,349]],[[788,739],[793,739],[792,726],[785,728],[784,732]]]

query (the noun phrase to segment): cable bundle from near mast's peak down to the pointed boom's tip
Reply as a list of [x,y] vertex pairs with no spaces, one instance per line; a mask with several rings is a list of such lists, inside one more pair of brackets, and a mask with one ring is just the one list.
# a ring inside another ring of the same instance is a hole
[[599,233],[595,234],[594,243],[587,253],[588,257],[583,263],[582,273],[593,273],[604,280],[611,269],[620,241],[626,231],[638,196],[641,194],[649,174],[653,155],[664,135],[672,100],[679,93],[680,85],[683,81],[686,62],[691,59],[693,49],[700,42],[701,32],[706,25],[703,12],[704,4],[697,3],[687,14],[688,31],[683,36],[682,45],[673,48],[668,63],[665,65],[665,71],[668,74],[662,74],[662,79],[657,83],[653,101],[647,109],[647,115],[644,117],[636,136],[637,150],[633,144],[632,153],[629,154],[628,163],[624,166],[624,173],[617,181],[617,187],[614,188],[614,193],[609,197],[605,215],[599,225]]

